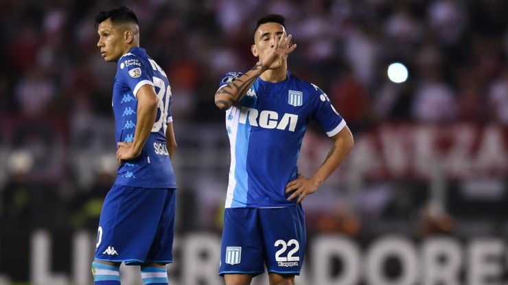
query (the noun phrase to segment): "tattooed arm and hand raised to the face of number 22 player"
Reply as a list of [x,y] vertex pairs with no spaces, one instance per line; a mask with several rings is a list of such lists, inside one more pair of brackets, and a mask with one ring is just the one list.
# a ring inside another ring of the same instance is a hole
[[257,77],[261,76],[268,69],[277,69],[281,62],[284,62],[290,53],[297,48],[291,42],[292,36],[281,34],[277,37],[266,57],[259,58],[259,62],[253,68],[238,79],[230,82],[226,86],[222,86],[215,94],[215,104],[220,110],[228,110],[231,106],[238,103],[251,88]]

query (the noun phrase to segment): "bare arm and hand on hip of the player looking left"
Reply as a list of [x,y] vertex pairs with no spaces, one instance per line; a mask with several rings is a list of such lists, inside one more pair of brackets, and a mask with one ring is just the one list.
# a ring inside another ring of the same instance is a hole
[[117,160],[119,164],[122,163],[122,160],[132,160],[141,154],[141,149],[143,149],[148,135],[152,132],[155,117],[157,116],[159,99],[157,99],[153,86],[150,84],[141,86],[136,97],[138,103],[134,141],[132,143],[120,142],[117,144]]

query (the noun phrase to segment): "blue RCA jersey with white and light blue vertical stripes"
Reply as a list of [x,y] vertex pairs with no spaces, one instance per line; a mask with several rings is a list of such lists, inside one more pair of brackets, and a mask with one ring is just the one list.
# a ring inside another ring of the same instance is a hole
[[[220,87],[240,77],[227,73]],[[308,123],[328,136],[346,125],[318,86],[288,71],[282,82],[258,78],[238,105],[226,112],[231,166],[226,208],[270,208],[295,204],[284,190],[296,179],[297,160]]]

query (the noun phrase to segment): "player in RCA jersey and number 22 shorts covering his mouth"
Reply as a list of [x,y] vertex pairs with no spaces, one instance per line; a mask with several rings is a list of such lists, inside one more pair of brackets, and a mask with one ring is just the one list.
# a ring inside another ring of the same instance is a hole
[[[318,86],[288,71],[297,47],[284,16],[257,21],[251,51],[259,59],[246,73],[224,75],[215,95],[226,111],[231,167],[219,274],[227,285],[248,285],[268,270],[270,285],[295,284],[305,251],[301,201],[330,177],[353,147],[353,136]],[[297,160],[309,121],[334,141],[311,177]]]

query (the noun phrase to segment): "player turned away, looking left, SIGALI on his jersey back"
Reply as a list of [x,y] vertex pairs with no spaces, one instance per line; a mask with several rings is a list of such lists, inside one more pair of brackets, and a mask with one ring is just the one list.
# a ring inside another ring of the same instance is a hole
[[168,77],[139,47],[139,25],[122,6],[95,17],[97,47],[116,62],[113,83],[117,179],[106,198],[92,262],[95,284],[120,284],[119,267],[140,265],[145,284],[168,284],[173,260],[176,149]]

